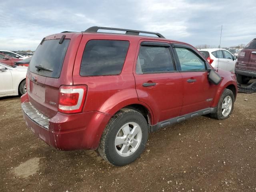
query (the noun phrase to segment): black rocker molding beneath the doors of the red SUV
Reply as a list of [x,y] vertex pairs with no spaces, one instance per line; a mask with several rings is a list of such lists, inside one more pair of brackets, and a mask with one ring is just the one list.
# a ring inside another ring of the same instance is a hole
[[199,110],[199,111],[196,111],[196,112],[193,112],[193,113],[189,113],[189,114],[186,114],[186,115],[174,117],[174,118],[159,122],[155,125],[149,125],[149,132],[155,132],[155,131],[159,130],[160,128],[169,126],[171,124],[178,123],[178,122],[181,122],[181,121],[184,121],[186,119],[193,118],[193,117],[196,117],[196,116],[206,115],[206,114],[209,114],[209,113],[214,113],[216,111],[217,111],[217,107],[210,107],[210,108],[202,109],[202,110]]

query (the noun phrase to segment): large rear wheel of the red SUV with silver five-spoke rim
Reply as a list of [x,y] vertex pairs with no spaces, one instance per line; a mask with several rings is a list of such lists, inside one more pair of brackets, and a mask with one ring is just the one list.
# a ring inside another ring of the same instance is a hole
[[136,110],[121,109],[106,126],[98,148],[100,156],[114,166],[136,160],[148,140],[148,123]]

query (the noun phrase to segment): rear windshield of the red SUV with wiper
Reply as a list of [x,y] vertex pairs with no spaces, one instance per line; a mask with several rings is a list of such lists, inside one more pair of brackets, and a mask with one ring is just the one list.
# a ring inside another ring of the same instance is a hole
[[[45,40],[34,53],[28,70],[46,77],[59,78],[70,39],[59,44],[59,39]],[[39,69],[38,66],[45,68]]]

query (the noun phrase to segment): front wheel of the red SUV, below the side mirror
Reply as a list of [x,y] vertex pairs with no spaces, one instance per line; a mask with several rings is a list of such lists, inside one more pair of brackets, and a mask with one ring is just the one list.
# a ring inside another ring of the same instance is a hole
[[228,118],[234,109],[234,100],[233,92],[229,89],[224,89],[218,102],[217,112],[211,114],[211,116],[218,120]]

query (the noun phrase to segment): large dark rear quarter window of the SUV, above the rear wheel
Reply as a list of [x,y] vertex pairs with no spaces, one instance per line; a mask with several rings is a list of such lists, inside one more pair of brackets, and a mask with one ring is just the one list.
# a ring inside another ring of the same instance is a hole
[[121,40],[90,40],[84,49],[81,76],[120,74],[129,42]]

